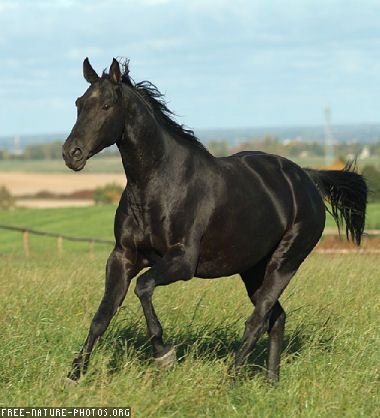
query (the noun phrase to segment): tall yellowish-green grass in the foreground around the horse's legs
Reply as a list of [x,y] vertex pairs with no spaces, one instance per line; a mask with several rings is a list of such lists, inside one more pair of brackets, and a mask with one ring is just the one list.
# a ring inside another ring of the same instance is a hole
[[[140,417],[379,416],[378,257],[309,257],[282,297],[288,313],[282,378],[264,379],[266,338],[235,384],[227,369],[252,307],[238,277],[159,288],[170,371],[152,363],[129,292],[90,371],[64,385],[103,292],[106,252],[60,259],[0,257],[0,405],[131,406]],[[133,285],[132,285],[133,287]],[[255,372],[255,373],[253,373]]]

